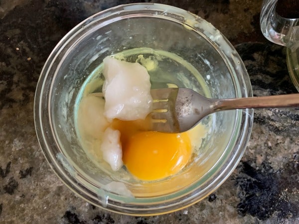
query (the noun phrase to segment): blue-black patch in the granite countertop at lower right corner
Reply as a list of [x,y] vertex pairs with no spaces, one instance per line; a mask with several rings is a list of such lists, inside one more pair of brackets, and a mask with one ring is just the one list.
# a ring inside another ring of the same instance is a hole
[[[238,213],[242,216],[250,214],[259,220],[266,220],[276,212],[279,218],[296,217],[299,208],[291,202],[280,184],[280,172],[274,171],[268,163],[262,163],[257,170],[244,162],[241,166],[242,176],[237,178],[241,191]],[[286,172],[287,170],[283,171]],[[299,173],[297,172],[297,178]],[[298,183],[297,184],[298,187]]]

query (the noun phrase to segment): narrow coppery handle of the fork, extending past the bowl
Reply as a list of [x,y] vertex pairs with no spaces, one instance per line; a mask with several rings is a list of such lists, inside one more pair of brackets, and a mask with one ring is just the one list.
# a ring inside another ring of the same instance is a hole
[[214,111],[244,108],[299,107],[299,94],[213,100]]

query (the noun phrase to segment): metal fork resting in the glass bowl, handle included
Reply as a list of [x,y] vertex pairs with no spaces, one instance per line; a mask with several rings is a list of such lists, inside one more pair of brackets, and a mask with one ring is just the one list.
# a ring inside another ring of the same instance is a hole
[[152,129],[160,132],[184,132],[206,115],[245,108],[299,107],[299,94],[236,99],[208,99],[187,88],[153,89]]

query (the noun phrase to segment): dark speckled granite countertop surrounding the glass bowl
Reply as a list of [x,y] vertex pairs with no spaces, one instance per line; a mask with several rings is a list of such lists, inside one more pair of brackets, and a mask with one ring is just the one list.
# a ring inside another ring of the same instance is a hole
[[[146,0],[147,1],[147,0]],[[149,0],[150,1],[150,0]],[[62,36],[87,16],[133,0],[0,0],[0,223],[299,223],[299,110],[256,110],[230,178],[175,213],[130,217],[95,208],[55,176],[33,122],[35,86]],[[285,49],[259,30],[262,0],[161,0],[200,15],[236,46],[255,96],[295,93]]]

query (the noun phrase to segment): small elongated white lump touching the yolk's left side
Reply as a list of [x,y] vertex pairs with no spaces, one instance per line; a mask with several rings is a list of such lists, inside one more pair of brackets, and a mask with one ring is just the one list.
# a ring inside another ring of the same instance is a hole
[[121,132],[107,127],[101,144],[103,159],[109,163],[113,171],[117,171],[123,166],[123,151],[120,142]]

